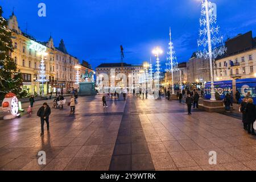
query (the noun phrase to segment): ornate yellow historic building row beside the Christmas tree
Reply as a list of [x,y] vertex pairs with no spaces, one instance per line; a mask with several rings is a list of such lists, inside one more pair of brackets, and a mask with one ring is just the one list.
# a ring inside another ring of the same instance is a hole
[[[51,36],[47,42],[39,42],[20,30],[14,13],[8,19],[8,28],[12,31],[11,40],[14,47],[11,57],[23,76],[22,89],[32,94],[42,92],[42,84],[36,81],[39,79],[39,65],[42,59],[44,59],[48,80],[44,83],[44,93],[68,93],[76,88],[75,65],[80,65],[80,62],[77,57],[67,52],[62,39],[59,47],[54,46]],[[34,47],[45,47],[47,54],[42,57],[42,53],[31,48],[31,44],[34,44]]]

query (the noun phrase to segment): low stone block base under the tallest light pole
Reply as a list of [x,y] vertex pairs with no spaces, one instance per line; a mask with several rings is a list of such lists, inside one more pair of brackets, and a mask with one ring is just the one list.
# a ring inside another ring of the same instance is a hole
[[225,108],[223,107],[223,101],[211,101],[204,100],[203,104],[199,104],[199,109],[208,111],[209,113],[223,113]]

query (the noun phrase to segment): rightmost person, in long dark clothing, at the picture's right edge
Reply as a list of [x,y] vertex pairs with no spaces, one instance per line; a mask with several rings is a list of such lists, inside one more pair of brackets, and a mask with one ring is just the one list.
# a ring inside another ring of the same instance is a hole
[[246,113],[246,123],[248,127],[247,131],[249,134],[255,135],[253,123],[255,122],[255,119],[256,119],[256,108],[255,108],[255,105],[253,105],[252,98],[249,98],[247,100],[245,113]]

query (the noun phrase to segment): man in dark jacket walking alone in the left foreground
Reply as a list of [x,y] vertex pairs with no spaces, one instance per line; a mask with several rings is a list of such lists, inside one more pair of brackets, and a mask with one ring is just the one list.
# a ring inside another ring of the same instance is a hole
[[48,106],[46,102],[44,102],[43,106],[38,110],[38,117],[41,119],[41,134],[44,134],[44,121],[46,121],[47,131],[49,131],[49,115],[51,114],[51,108]]

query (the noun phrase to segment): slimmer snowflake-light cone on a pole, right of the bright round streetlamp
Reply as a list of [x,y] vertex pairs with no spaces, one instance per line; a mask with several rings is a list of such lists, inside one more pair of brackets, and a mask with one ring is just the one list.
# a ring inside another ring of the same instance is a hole
[[171,37],[171,28],[170,28],[170,42],[169,42],[169,51],[167,52],[167,63],[166,63],[166,72],[170,72],[172,75],[172,94],[174,94],[174,71],[178,71],[178,63],[177,63],[177,57],[176,53],[174,51],[174,46],[172,43],[172,37]]

